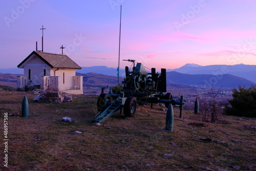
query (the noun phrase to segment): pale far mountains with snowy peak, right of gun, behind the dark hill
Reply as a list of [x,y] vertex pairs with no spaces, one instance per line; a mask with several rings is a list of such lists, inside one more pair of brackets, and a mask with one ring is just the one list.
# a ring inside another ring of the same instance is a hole
[[210,65],[200,66],[195,63],[187,63],[181,68],[167,71],[176,71],[183,74],[231,74],[234,76],[248,79],[252,82],[256,82],[256,65]]

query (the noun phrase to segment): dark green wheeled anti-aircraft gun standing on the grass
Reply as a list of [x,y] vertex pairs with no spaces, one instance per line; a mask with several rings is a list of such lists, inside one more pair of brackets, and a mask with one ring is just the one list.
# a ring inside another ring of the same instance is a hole
[[172,94],[166,93],[166,69],[161,69],[161,73],[157,73],[155,68],[151,72],[146,72],[142,63],[137,63],[135,60],[128,59],[125,61],[133,62],[132,71],[129,67],[125,67],[125,78],[122,81],[122,91],[117,91],[113,94],[110,88],[109,93],[104,93],[104,88],[97,101],[98,114],[94,117],[94,122],[103,122],[120,110],[120,114],[126,117],[133,117],[136,112],[137,103],[164,103],[168,108],[169,104],[180,105],[180,114],[182,112],[183,96],[180,101],[173,100]]

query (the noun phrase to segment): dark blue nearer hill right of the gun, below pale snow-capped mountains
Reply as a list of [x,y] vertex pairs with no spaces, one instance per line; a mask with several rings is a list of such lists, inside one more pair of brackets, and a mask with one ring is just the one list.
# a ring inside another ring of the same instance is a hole
[[189,86],[209,86],[211,87],[212,82],[213,86],[216,87],[228,87],[228,88],[238,88],[239,86],[245,86],[246,88],[251,87],[253,83],[245,78],[233,76],[230,74],[224,75],[211,75],[211,74],[183,74],[175,71],[166,73],[166,82],[169,83],[178,83],[185,84]]

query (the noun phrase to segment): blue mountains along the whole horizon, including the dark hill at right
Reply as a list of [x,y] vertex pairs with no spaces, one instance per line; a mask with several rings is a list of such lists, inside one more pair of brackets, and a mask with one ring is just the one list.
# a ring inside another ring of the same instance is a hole
[[[186,84],[190,86],[211,87],[250,87],[256,82],[256,65],[210,65],[200,66],[195,63],[187,63],[181,68],[166,70],[167,84]],[[104,74],[117,76],[116,68],[105,66],[82,67],[77,70],[80,74]],[[23,74],[23,69],[10,68],[0,69],[0,73]],[[120,69],[120,77],[125,77],[124,69]],[[113,78],[114,79],[114,78]],[[97,83],[97,81],[95,82]]]

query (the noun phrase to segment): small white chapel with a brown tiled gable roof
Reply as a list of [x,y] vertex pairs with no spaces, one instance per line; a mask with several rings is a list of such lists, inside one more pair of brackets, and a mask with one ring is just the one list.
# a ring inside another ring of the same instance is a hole
[[80,70],[67,55],[33,51],[18,68],[24,69],[23,76],[17,76],[17,88],[37,86],[70,94],[83,94],[82,76],[76,76]]

